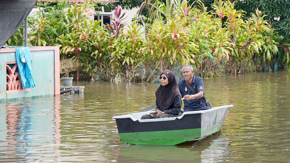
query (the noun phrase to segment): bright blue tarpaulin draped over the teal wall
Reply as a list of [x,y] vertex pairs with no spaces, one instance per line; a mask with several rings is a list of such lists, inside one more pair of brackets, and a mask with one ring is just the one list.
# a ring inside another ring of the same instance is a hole
[[21,78],[23,89],[34,89],[35,83],[32,77],[32,64],[30,59],[29,47],[14,47],[15,59]]

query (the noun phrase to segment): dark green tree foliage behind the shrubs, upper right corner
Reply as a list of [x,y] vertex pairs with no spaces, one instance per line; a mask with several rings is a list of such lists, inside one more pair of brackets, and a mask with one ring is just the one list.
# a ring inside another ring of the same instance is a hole
[[[235,9],[245,11],[244,20],[254,18],[253,13],[259,17],[257,13],[257,9],[263,11],[261,13],[263,16],[261,17],[264,22],[267,22],[268,25],[271,25],[272,28],[276,29],[276,32],[280,35],[279,38],[276,39],[278,42],[278,51],[277,57],[274,56],[275,60],[279,60],[285,65],[290,65],[289,62],[289,42],[290,42],[290,10],[288,9],[290,6],[290,1],[285,0],[243,0],[243,1],[235,1],[230,0],[235,3]],[[202,0],[204,2],[204,6],[207,6],[207,10],[211,10],[210,6],[214,3],[214,0]],[[257,20],[257,19],[256,19]],[[260,21],[261,19],[258,19]],[[256,24],[259,26],[259,24]],[[266,24],[265,24],[266,25]],[[267,34],[266,34],[267,35]],[[264,35],[265,36],[265,35]],[[283,37],[282,37],[283,36]],[[269,55],[270,56],[270,55]],[[267,55],[265,56],[267,58]],[[281,58],[283,58],[281,60]],[[263,60],[262,60],[263,61]],[[273,61],[274,62],[274,61]]]

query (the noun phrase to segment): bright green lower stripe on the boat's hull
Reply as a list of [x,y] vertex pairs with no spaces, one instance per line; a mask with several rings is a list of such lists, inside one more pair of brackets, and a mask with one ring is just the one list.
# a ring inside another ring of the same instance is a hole
[[176,145],[201,137],[201,129],[120,133],[120,141],[131,144]]

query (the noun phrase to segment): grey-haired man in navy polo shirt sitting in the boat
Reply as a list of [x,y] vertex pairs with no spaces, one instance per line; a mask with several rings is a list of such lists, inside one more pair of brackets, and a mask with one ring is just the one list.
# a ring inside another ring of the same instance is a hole
[[202,78],[194,76],[194,71],[191,65],[185,65],[182,67],[182,75],[184,79],[178,82],[178,88],[181,93],[181,97],[184,98],[183,111],[186,112],[210,109],[210,104],[207,103],[207,100],[204,97],[204,85]]

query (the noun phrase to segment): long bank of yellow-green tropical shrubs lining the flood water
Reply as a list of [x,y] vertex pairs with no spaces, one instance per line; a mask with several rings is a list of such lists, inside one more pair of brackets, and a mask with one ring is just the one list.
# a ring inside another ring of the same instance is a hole
[[[185,64],[202,77],[253,72],[277,60],[289,64],[289,44],[279,44],[284,37],[267,14],[256,9],[247,18],[236,4],[214,1],[209,11],[201,1],[193,6],[185,0],[146,0],[147,17],[124,22],[124,11],[113,6],[112,24],[104,28],[89,18],[94,3],[59,4],[30,17],[29,44],[60,46],[61,59],[77,60],[78,76],[90,80],[154,81],[161,71],[179,73]],[[18,42],[13,36],[8,43]]]

